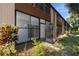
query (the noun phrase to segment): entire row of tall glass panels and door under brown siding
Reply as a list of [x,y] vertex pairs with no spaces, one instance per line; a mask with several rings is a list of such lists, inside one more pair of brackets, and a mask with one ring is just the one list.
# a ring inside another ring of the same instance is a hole
[[50,22],[44,19],[16,11],[16,26],[19,29],[17,43],[30,41],[32,38],[50,39]]

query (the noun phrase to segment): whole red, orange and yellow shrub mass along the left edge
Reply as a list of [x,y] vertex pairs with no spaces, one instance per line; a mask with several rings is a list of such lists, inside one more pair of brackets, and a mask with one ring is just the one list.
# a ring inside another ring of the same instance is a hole
[[14,25],[2,25],[0,29],[0,55],[16,55],[17,32],[18,29]]

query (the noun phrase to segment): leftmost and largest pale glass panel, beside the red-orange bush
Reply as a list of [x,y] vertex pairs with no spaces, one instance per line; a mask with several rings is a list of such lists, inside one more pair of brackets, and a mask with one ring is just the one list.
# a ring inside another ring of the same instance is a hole
[[29,41],[30,15],[16,11],[16,26],[19,28],[17,43]]

